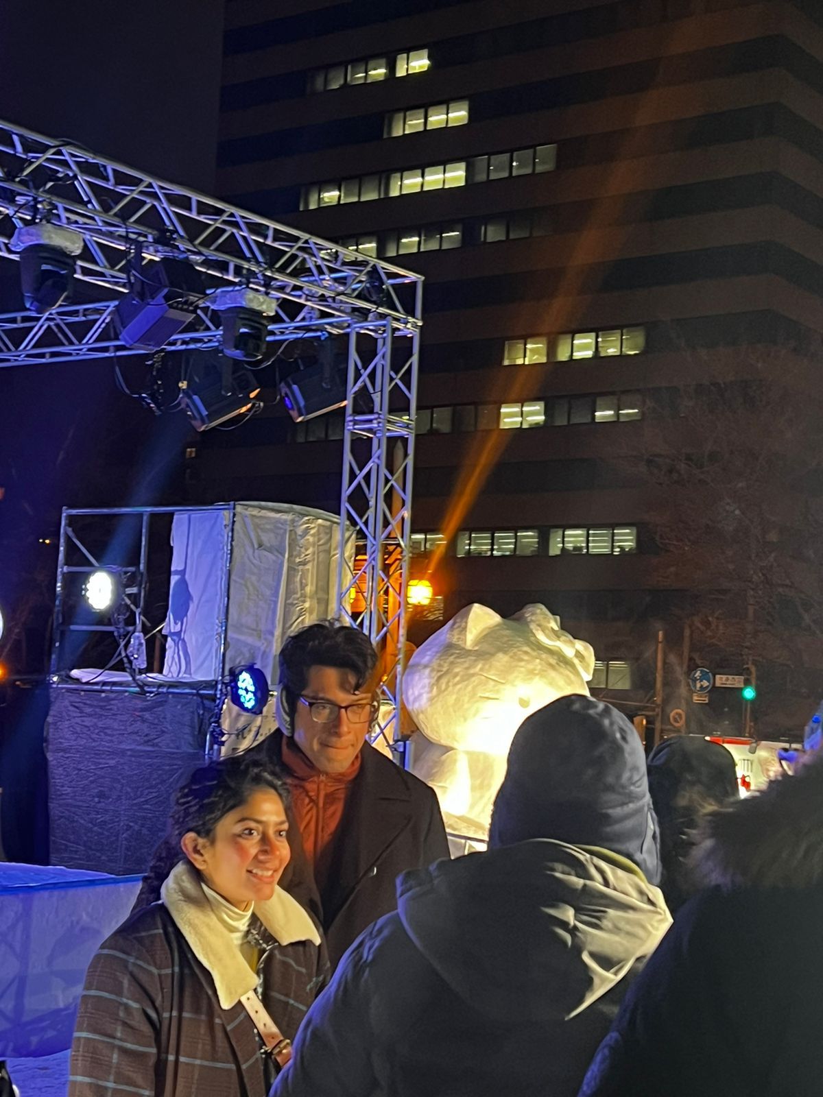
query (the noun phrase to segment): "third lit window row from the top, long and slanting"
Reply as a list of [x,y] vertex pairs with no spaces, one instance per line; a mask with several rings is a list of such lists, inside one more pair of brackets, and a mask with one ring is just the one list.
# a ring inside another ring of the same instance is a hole
[[515,152],[475,156],[471,160],[432,163],[425,168],[405,171],[383,171],[354,179],[329,183],[312,183],[301,189],[301,210],[318,206],[346,205],[350,202],[373,202],[375,199],[396,199],[420,191],[441,191],[467,183],[485,183],[509,176],[529,176],[554,171],[557,166],[557,146],[538,145]]

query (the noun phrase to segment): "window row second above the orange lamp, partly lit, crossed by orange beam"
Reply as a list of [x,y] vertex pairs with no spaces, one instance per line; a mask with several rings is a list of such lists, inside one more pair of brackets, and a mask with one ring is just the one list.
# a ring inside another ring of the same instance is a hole
[[567,427],[586,422],[627,422],[643,418],[640,393],[602,396],[557,396],[550,400],[511,404],[458,404],[419,408],[417,434],[451,434],[473,430]]

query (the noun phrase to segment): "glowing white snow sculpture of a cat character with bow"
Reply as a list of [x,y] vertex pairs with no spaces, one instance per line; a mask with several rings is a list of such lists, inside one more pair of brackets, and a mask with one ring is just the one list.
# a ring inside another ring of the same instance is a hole
[[450,834],[486,840],[515,732],[559,697],[588,693],[594,665],[591,646],[540,604],[507,620],[466,606],[414,653],[403,678],[418,727],[410,768],[437,792]]

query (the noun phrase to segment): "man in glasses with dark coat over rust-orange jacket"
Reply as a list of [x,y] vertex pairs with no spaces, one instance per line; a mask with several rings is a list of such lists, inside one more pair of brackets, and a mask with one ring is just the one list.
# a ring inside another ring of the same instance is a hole
[[289,782],[314,885],[291,893],[317,916],[332,965],[396,908],[398,873],[449,856],[433,791],[367,743],[376,661],[364,633],[334,621],[291,636],[280,653],[279,731],[252,748]]

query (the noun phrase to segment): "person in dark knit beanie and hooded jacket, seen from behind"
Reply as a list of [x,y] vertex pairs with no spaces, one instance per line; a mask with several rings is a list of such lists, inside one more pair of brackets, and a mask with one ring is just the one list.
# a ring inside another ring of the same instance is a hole
[[573,1097],[670,924],[643,748],[565,697],[517,732],[489,848],[398,880],[271,1097]]

